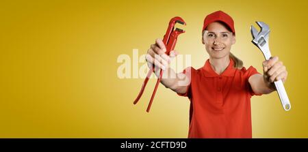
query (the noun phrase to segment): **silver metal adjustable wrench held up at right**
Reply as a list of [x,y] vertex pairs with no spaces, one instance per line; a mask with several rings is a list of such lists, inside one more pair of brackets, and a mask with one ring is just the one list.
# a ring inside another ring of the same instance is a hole
[[[266,25],[264,22],[257,22],[257,25],[261,28],[261,31],[258,32],[255,27],[251,26],[251,35],[253,35],[253,44],[257,46],[266,60],[270,59],[272,55],[270,55],[270,48],[268,46],[268,38],[270,37],[270,27]],[[275,81],[274,85],[277,89],[281,104],[283,109],[286,111],[291,109],[291,104],[289,101],[289,97],[287,97],[287,92],[285,91],[285,87],[283,86],[283,82],[281,80]]]

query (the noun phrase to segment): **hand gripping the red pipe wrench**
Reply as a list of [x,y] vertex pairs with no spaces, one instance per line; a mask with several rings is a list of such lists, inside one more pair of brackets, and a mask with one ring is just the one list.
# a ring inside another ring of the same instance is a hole
[[[149,68],[151,69],[155,65],[155,71],[157,70],[167,70],[168,65],[173,57],[177,55],[175,50],[170,52],[170,57],[166,55],[166,46],[161,39],[156,39],[155,44],[151,44],[147,54],[146,62],[148,63]],[[158,68],[157,68],[158,67]]]

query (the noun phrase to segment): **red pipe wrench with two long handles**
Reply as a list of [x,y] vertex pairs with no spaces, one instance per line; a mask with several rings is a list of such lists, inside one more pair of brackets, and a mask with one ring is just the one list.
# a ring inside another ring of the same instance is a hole
[[[175,48],[175,44],[177,44],[177,36],[180,35],[181,33],[185,32],[183,29],[175,28],[175,24],[176,23],[179,23],[181,25],[186,25],[185,21],[182,18],[178,17],[178,16],[174,17],[174,18],[171,18],[171,20],[169,22],[168,29],[167,29],[166,34],[164,35],[164,39],[163,39],[163,42],[164,42],[164,44],[166,46],[166,52],[165,52],[166,55],[169,55],[170,51]],[[141,88],[141,90],[140,90],[136,100],[133,102],[133,104],[137,104],[137,102],[140,100],[140,97],[142,96],[142,94],[144,92],[144,88],[146,87],[146,84],[148,83],[149,78],[150,78],[152,72],[154,72],[154,67],[155,67],[155,65],[153,65],[151,70],[149,70],[149,72],[148,72],[148,74],[147,74],[147,76],[146,76],[146,78],[145,78],[145,80],[143,82],[142,88]],[[159,75],[159,78],[157,79],[154,91],[152,93],[151,100],[149,102],[149,106],[148,106],[148,108],[146,108],[146,112],[150,111],[153,99],[155,97],[155,93],[157,91],[157,87],[159,85],[160,80],[162,80],[162,72],[163,71],[160,70],[160,75]]]

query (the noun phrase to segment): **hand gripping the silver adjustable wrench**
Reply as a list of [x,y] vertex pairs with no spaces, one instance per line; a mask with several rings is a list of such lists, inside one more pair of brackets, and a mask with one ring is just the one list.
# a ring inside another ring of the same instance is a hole
[[285,80],[287,80],[287,70],[283,62],[279,61],[278,57],[271,57],[262,64],[264,82],[266,82],[266,85],[268,85],[270,89],[275,90],[274,81],[282,80],[285,82]]

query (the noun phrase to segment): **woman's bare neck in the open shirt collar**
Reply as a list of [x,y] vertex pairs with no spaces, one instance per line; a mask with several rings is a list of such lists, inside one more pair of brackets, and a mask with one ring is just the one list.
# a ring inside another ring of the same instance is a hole
[[211,64],[211,68],[220,75],[227,69],[230,63],[230,58],[229,55],[221,59],[213,59],[209,57],[209,63]]

